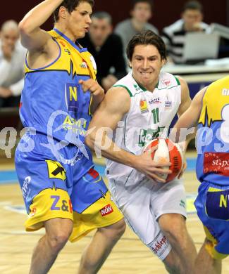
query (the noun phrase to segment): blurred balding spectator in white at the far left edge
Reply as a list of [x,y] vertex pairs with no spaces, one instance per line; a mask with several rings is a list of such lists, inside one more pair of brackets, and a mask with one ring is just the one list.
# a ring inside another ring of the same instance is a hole
[[24,85],[25,48],[18,41],[18,23],[1,26],[0,39],[0,107],[19,106]]

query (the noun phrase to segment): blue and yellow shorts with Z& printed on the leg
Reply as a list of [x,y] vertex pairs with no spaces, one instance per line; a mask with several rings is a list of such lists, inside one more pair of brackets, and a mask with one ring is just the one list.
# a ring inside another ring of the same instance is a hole
[[78,152],[75,145],[59,150],[66,159],[60,162],[49,148],[41,145],[47,143],[46,136],[24,136],[20,145],[28,143],[28,138],[35,148],[23,152],[18,146],[15,157],[28,214],[27,231],[44,227],[44,221],[51,218],[69,218],[73,221],[70,241],[74,242],[94,228],[109,226],[123,218],[92,162],[81,165],[80,158],[69,162]]

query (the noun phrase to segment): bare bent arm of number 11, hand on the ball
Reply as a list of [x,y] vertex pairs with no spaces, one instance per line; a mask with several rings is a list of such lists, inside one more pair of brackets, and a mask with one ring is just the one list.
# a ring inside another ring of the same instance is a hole
[[130,96],[128,92],[123,88],[110,89],[89,124],[90,133],[85,142],[92,150],[101,151],[101,155],[104,157],[133,167],[157,181],[165,182],[156,173],[169,174],[171,171],[161,169],[163,166],[168,166],[168,163],[157,164],[153,162],[150,153],[143,153],[139,156],[133,155],[118,148],[118,145],[109,138],[109,133],[116,129],[118,122],[129,109]]

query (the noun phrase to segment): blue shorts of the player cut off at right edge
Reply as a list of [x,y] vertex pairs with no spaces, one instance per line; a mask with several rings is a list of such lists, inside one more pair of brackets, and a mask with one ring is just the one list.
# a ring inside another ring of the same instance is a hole
[[214,259],[229,254],[229,185],[222,186],[206,181],[199,185],[194,205],[204,225],[211,247],[206,247]]

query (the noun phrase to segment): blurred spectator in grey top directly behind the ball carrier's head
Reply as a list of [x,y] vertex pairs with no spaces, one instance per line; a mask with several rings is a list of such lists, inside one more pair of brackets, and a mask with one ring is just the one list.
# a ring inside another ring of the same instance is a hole
[[152,0],[133,0],[132,9],[130,11],[131,18],[119,22],[116,26],[114,32],[122,38],[124,52],[130,39],[132,39],[135,34],[142,32],[143,30],[151,30],[156,34],[159,34],[156,27],[148,23],[153,15],[152,8]]

